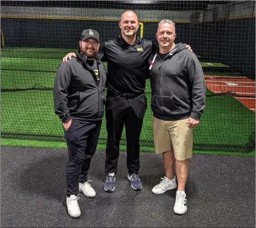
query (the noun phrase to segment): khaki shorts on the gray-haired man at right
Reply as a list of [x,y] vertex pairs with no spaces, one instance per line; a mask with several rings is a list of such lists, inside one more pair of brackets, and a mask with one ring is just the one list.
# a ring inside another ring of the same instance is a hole
[[165,121],[153,116],[152,125],[156,153],[172,150],[176,160],[192,157],[193,129],[188,127],[188,118]]

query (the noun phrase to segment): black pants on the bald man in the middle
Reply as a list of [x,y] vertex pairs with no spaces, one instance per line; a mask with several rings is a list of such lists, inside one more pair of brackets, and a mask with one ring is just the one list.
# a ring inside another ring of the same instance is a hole
[[105,172],[116,174],[119,157],[119,143],[125,126],[127,137],[127,168],[129,174],[138,174],[140,169],[140,133],[147,109],[147,98],[141,94],[132,99],[108,95],[106,102],[106,145]]

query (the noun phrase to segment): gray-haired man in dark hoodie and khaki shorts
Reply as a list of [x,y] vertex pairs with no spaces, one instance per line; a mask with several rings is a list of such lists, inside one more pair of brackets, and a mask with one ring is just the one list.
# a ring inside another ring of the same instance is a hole
[[192,157],[192,129],[199,124],[206,98],[206,84],[200,62],[181,43],[175,44],[175,24],[162,20],[156,38],[159,49],[149,59],[152,91],[153,135],[156,153],[163,153],[165,177],[152,192],[162,194],[177,187],[173,208],[187,211],[185,184]]

